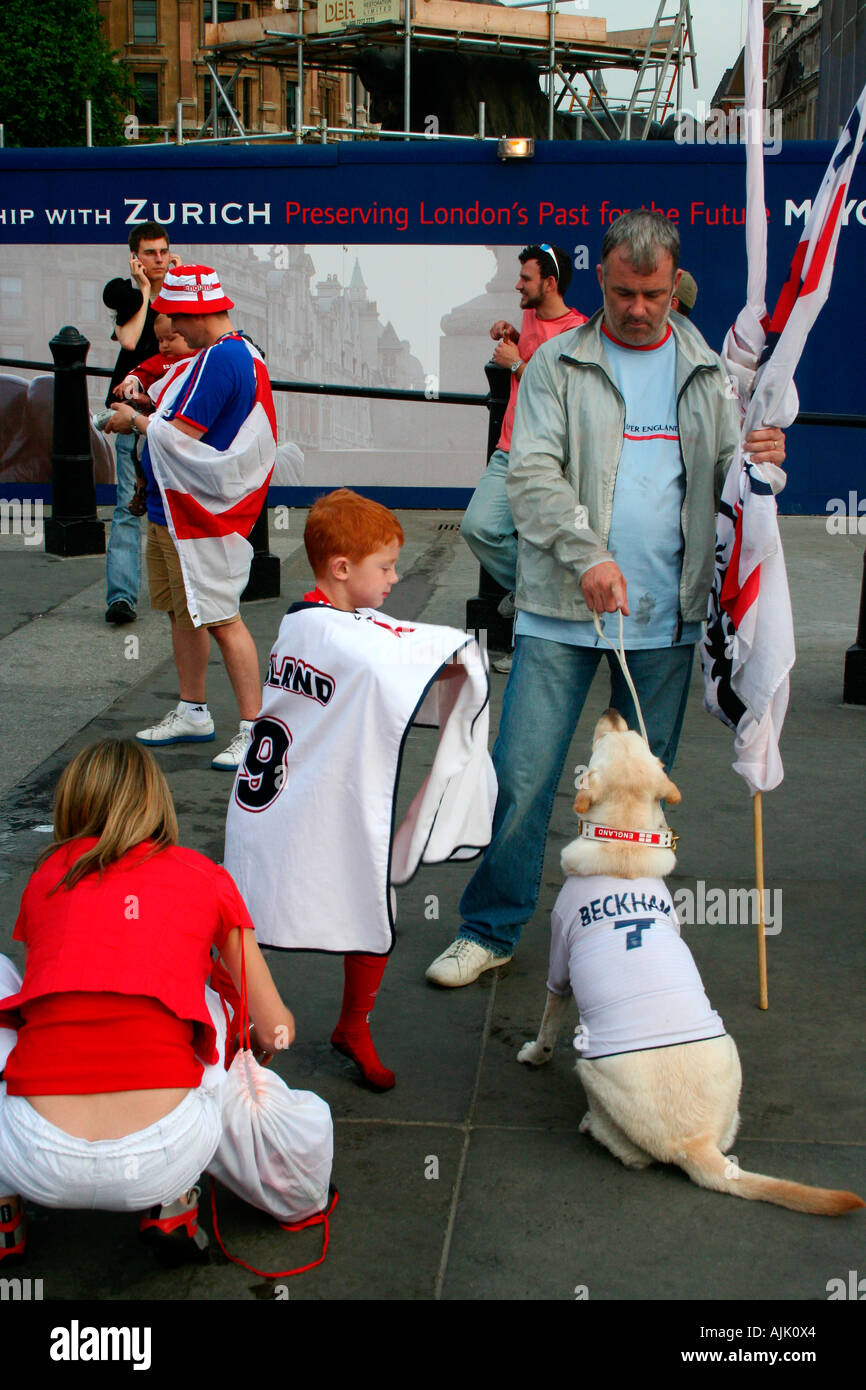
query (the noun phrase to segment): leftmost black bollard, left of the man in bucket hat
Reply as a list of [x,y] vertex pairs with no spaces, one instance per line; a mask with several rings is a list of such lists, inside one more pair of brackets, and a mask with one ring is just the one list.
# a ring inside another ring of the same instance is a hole
[[90,343],[78,328],[61,328],[49,348],[54,359],[51,516],[44,527],[49,555],[104,555],[106,525],[96,516],[90,406],[85,361]]

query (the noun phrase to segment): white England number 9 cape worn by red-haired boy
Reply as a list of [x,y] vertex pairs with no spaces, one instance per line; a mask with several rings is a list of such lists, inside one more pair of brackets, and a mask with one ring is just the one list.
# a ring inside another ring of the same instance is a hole
[[[438,744],[395,830],[413,723],[438,727]],[[225,867],[259,942],[389,952],[392,884],[489,844],[488,723],[487,663],[466,632],[400,627],[370,609],[291,609],[225,826]]]

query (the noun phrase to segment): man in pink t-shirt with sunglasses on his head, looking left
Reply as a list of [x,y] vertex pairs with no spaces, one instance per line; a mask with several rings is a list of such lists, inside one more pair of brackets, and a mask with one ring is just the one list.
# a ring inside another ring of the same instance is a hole
[[545,242],[541,246],[527,246],[518,260],[520,279],[514,288],[523,309],[520,332],[505,318],[498,320],[491,328],[491,338],[496,341],[493,361],[512,373],[512,393],[499,443],[491,455],[460,525],[460,534],[473,555],[509,592],[514,589],[517,575],[517,534],[505,491],[505,477],[509,470],[517,386],[537,348],[549,338],[587,322],[587,316],[569,309],[562,297],[571,279],[571,259],[567,252]]

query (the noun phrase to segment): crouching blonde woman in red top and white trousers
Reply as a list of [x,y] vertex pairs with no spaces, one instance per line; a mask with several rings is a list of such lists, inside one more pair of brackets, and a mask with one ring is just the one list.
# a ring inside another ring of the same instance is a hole
[[295,1020],[229,874],[178,845],[168,785],[132,741],[85,748],[57,787],[54,842],[0,956],[0,1268],[24,1254],[22,1198],[140,1212],[168,1258],[204,1258],[196,1180],[218,1150],[225,1015],[240,935],[259,1038]]

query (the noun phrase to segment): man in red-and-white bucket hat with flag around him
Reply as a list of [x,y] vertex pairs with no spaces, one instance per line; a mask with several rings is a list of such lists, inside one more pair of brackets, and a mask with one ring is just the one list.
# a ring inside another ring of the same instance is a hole
[[253,555],[246,537],[277,456],[271,384],[260,353],[232,328],[234,303],[210,265],[168,271],[153,307],[197,356],[150,388],[153,414],[122,404],[106,427],[145,436],[150,602],[171,621],[181,695],[136,738],[152,748],[214,738],[204,692],[213,632],[240,726],[211,766],[234,771],[261,703],[259,656],[238,605]]

